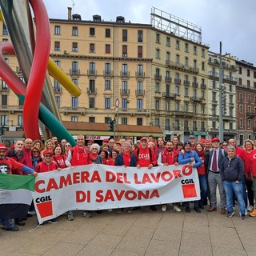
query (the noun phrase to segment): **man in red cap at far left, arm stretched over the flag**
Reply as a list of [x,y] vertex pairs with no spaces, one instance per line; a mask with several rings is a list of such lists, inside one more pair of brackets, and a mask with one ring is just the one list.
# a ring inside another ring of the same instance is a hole
[[[28,166],[25,166],[21,162],[15,161],[13,158],[6,157],[6,146],[0,144],[0,173],[2,174],[13,174],[14,171],[22,171],[26,174],[32,174],[34,177],[37,176],[37,172],[31,169]],[[20,216],[21,218],[23,216]],[[14,226],[14,222],[12,219],[0,220],[0,222],[4,222],[4,227],[6,231],[18,231],[18,226]]]

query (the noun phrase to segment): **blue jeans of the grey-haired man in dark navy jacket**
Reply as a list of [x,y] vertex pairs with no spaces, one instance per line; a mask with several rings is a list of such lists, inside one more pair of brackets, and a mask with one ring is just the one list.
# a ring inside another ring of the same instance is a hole
[[240,213],[246,213],[246,203],[242,194],[242,183],[236,182],[223,182],[224,190],[226,192],[226,207],[228,212],[233,212],[233,192],[238,199],[238,206],[240,208]]

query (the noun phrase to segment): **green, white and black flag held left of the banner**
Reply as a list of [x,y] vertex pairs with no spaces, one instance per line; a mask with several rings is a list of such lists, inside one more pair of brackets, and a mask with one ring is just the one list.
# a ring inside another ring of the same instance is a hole
[[26,217],[32,191],[34,176],[0,173],[0,219]]

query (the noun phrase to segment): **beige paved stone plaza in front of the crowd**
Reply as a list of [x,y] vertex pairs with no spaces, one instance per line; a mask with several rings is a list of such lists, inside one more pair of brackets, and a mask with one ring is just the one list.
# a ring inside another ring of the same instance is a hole
[[218,211],[162,213],[144,207],[128,214],[102,211],[85,218],[74,212],[74,221],[66,216],[58,224],[37,226],[37,218],[28,218],[18,232],[0,230],[1,256],[156,256],[156,255],[256,255],[256,219],[233,218]]

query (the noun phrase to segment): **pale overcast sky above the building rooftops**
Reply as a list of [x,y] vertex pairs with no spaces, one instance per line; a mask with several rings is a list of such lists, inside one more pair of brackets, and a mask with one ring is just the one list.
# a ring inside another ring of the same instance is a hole
[[256,0],[44,0],[49,18],[67,18],[67,7],[82,20],[99,14],[105,21],[124,16],[126,22],[150,24],[151,7],[202,27],[202,43],[256,66]]

